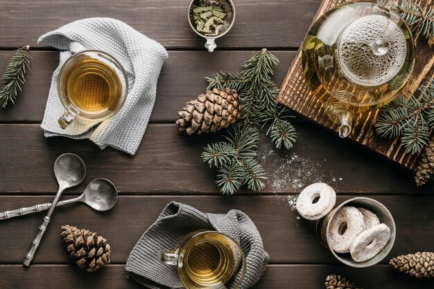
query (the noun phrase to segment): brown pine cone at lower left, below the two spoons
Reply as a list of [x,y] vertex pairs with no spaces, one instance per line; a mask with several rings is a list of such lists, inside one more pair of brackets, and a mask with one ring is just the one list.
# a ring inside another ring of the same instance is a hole
[[110,245],[105,238],[86,229],[64,225],[62,233],[64,243],[71,257],[79,259],[77,265],[80,269],[93,272],[110,263]]

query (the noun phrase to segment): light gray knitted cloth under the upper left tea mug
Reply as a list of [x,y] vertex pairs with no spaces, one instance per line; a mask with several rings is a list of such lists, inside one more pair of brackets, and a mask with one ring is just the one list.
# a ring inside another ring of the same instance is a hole
[[[62,50],[59,66],[51,79],[41,124],[45,137],[90,139],[100,148],[112,146],[134,155],[154,107],[159,72],[167,58],[166,49],[127,24],[111,18],[74,21],[42,35],[38,42]],[[85,49],[107,52],[121,62],[128,76],[128,96],[121,110],[112,118],[102,123],[75,119],[66,130],[62,130],[58,125],[64,112],[58,97],[58,73],[69,56]]]

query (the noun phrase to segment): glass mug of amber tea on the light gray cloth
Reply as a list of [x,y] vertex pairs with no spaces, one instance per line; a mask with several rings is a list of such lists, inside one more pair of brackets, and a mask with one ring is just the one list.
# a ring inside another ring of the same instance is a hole
[[65,112],[58,121],[65,129],[76,118],[104,121],[119,112],[128,94],[128,79],[111,55],[97,50],[72,55],[60,69],[58,94]]

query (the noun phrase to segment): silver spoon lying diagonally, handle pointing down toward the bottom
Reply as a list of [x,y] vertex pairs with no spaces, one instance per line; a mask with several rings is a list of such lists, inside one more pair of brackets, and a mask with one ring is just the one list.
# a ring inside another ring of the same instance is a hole
[[28,250],[26,257],[24,258],[23,264],[25,266],[30,265],[35,256],[35,252],[37,247],[39,247],[42,236],[44,236],[46,227],[49,225],[51,220],[51,215],[57,206],[60,195],[62,195],[63,191],[80,184],[85,179],[86,175],[86,166],[78,155],[74,155],[71,153],[66,153],[58,157],[54,163],[54,175],[58,180],[59,190],[56,193],[53,203],[49,209],[49,212],[46,213],[44,217],[44,221],[40,225],[40,230],[37,232],[35,238],[32,241],[31,248]]

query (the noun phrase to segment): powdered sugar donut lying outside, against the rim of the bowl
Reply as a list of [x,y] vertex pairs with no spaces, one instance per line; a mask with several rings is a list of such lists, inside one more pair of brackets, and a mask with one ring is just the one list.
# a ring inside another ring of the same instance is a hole
[[[318,202],[313,202],[319,198]],[[315,183],[306,186],[298,195],[295,207],[307,220],[318,220],[329,213],[336,204],[335,190],[328,184]]]

